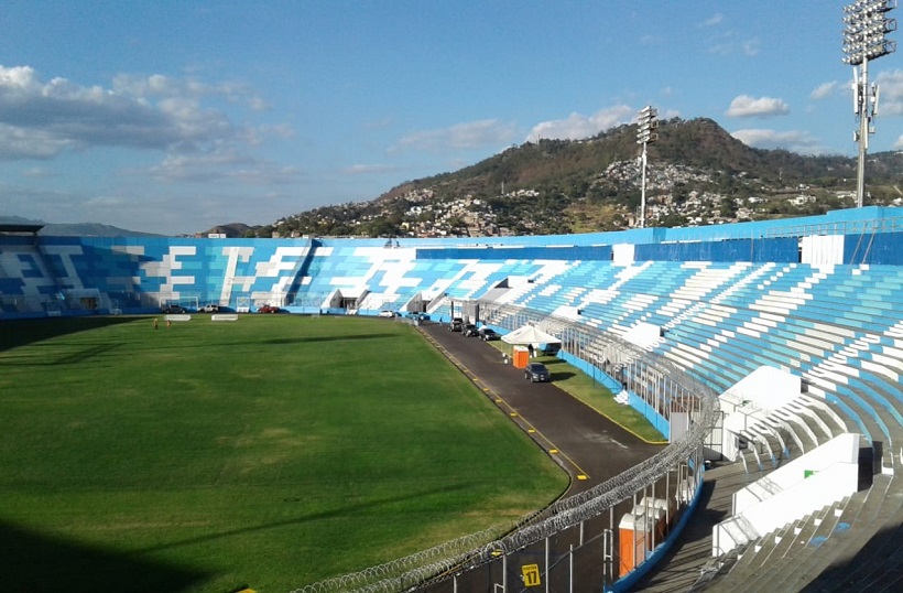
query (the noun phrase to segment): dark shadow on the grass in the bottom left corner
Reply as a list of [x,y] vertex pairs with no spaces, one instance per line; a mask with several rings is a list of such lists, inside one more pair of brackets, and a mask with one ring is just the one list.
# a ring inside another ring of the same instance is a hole
[[4,591],[186,591],[211,575],[0,521]]

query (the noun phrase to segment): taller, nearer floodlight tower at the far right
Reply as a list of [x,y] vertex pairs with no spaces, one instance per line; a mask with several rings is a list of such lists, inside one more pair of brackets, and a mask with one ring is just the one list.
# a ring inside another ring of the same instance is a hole
[[885,39],[888,33],[896,31],[896,19],[888,18],[894,8],[896,0],[857,0],[844,7],[844,63],[853,67],[853,112],[859,118],[859,131],[853,133],[853,140],[859,143],[858,208],[862,207],[866,196],[866,152],[869,134],[874,133],[871,121],[878,116],[878,85],[869,86],[869,61],[896,50],[896,43]]

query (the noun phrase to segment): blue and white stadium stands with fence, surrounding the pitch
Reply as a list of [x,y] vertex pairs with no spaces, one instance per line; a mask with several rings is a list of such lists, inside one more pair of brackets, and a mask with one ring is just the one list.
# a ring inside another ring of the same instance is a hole
[[509,532],[302,591],[891,591],[903,582],[903,209],[491,239],[39,230],[0,228],[4,322],[177,305],[189,312],[168,316],[178,323],[208,305],[226,320],[270,305],[465,316],[503,334],[535,326],[559,343],[559,358],[601,377],[668,440]]

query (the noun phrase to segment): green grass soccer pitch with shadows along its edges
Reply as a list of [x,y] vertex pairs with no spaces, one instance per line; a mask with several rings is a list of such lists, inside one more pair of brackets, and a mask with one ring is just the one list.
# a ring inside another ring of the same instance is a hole
[[10,591],[286,592],[567,487],[390,320],[3,322],[0,419]]

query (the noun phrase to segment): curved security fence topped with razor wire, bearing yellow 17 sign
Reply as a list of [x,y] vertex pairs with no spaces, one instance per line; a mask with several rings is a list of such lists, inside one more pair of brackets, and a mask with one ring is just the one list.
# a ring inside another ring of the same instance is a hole
[[[671,443],[654,456],[594,488],[563,498],[515,525],[423,550],[296,593],[424,591],[617,590],[683,525],[700,489],[715,391],[668,362],[617,336],[537,311],[470,302],[483,323],[514,330],[542,324],[563,352],[596,367],[642,398],[672,424]],[[674,424],[681,430],[673,430]],[[646,564],[649,567],[649,564]],[[616,584],[617,583],[617,584]]]

